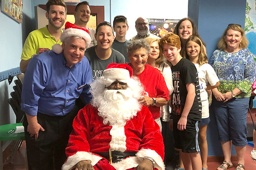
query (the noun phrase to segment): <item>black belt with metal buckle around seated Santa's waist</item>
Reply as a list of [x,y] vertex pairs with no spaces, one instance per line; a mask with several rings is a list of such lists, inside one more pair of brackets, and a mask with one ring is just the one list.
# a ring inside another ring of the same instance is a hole
[[[105,157],[107,160],[109,160],[109,163],[112,164],[115,162],[119,162],[129,156],[135,156],[136,152],[120,152],[120,151],[112,151],[109,149],[109,152],[94,152],[95,154],[98,154],[102,157]],[[109,158],[110,157],[110,158]]]

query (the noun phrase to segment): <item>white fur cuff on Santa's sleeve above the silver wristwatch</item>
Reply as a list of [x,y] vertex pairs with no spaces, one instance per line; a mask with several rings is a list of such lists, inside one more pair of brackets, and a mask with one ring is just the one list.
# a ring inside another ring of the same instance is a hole
[[143,160],[144,157],[151,157],[156,162],[155,168],[157,168],[158,170],[162,170],[162,169],[165,170],[164,162],[161,156],[158,155],[155,150],[141,149],[136,153],[136,156],[141,161]]

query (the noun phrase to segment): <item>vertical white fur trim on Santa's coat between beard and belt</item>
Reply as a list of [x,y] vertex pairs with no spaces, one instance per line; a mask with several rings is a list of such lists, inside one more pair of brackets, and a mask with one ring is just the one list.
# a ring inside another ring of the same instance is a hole
[[112,125],[110,130],[111,141],[109,143],[112,150],[125,152],[126,150],[126,136],[124,125]]

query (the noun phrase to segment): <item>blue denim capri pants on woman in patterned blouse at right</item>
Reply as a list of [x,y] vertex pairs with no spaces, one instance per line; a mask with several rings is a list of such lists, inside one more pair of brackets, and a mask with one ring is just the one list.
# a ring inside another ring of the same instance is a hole
[[250,98],[233,98],[226,103],[212,100],[212,109],[216,118],[220,142],[232,140],[239,147],[247,145],[247,111]]

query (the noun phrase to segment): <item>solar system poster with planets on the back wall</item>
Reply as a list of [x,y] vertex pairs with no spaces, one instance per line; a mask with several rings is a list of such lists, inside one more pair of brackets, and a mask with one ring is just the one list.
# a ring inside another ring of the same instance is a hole
[[173,32],[178,21],[179,20],[148,18],[149,31],[151,34],[155,34],[161,38],[165,36],[166,33]]

